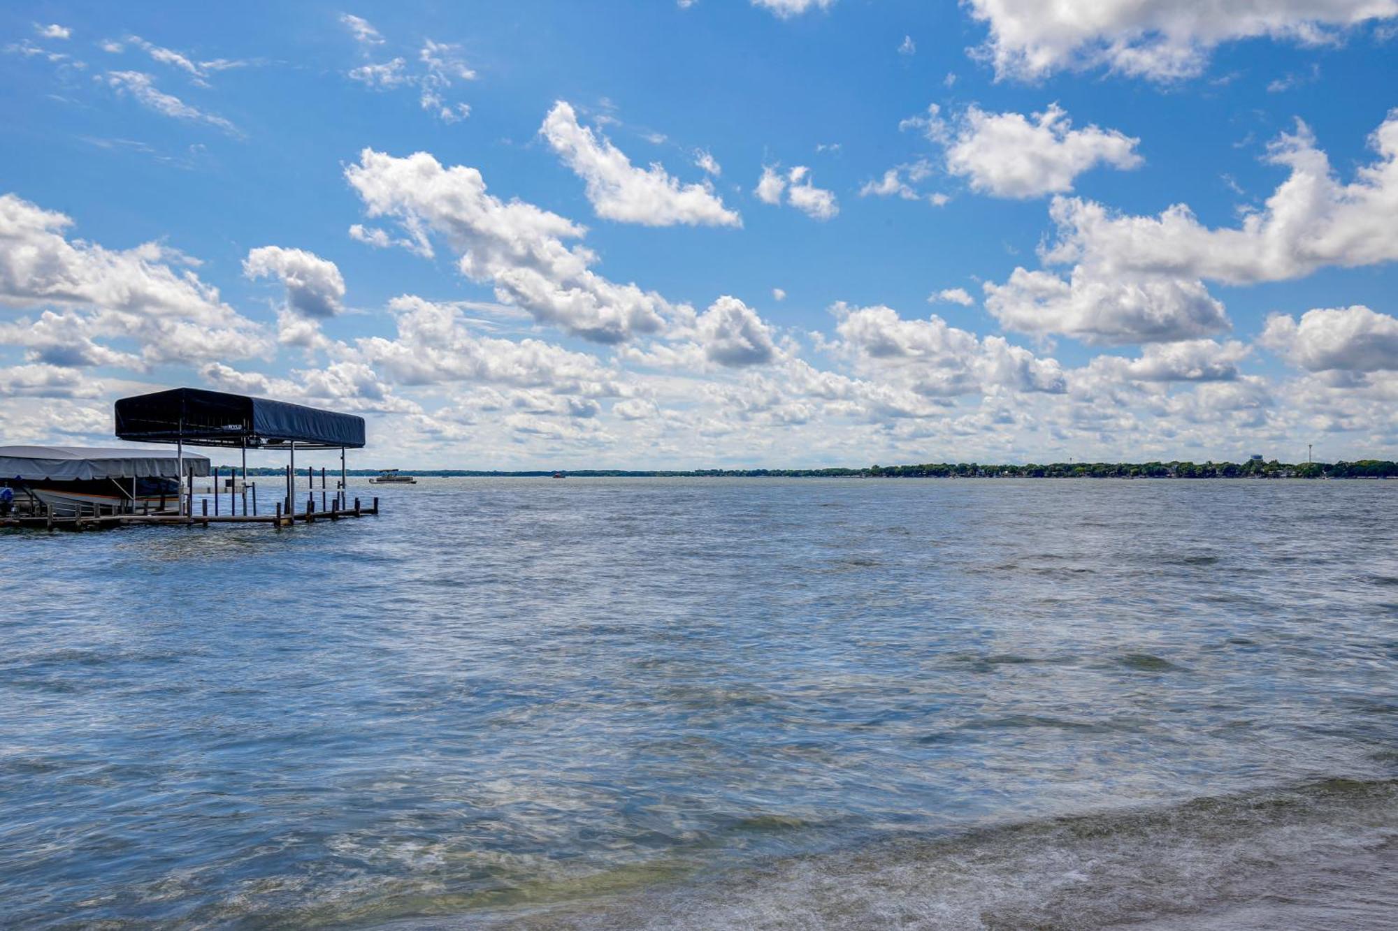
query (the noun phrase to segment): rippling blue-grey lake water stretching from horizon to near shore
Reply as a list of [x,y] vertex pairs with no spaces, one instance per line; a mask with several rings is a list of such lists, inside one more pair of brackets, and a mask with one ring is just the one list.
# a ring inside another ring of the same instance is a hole
[[0,535],[0,925],[1398,923],[1398,482],[351,485]]

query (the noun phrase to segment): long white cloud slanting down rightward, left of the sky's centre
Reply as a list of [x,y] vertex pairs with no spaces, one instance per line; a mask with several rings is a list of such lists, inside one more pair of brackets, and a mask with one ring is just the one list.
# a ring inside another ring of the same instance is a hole
[[660,295],[603,278],[589,267],[590,250],[563,243],[582,238],[582,226],[524,201],[500,201],[474,168],[443,168],[426,152],[394,158],[366,148],[345,178],[369,217],[396,219],[428,256],[429,233],[445,236],[464,275],[489,281],[496,299],[542,323],[598,342],[663,326],[668,305]]

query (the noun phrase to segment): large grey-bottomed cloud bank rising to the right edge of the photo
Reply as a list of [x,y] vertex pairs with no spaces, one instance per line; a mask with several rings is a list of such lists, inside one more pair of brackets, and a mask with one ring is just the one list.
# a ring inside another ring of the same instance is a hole
[[1378,158],[1342,183],[1304,124],[1268,148],[1290,171],[1260,210],[1236,228],[1211,229],[1187,205],[1159,217],[1116,214],[1102,204],[1055,197],[1057,239],[1047,264],[1072,264],[1067,280],[1015,268],[986,285],[986,308],[1026,333],[1062,333],[1089,342],[1174,341],[1229,329],[1205,280],[1255,284],[1297,278],[1324,266],[1398,259],[1398,110],[1370,137]]

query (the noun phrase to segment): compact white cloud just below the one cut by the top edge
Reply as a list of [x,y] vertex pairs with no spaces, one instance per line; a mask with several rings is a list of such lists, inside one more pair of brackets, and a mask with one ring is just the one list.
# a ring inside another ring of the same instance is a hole
[[948,173],[967,178],[973,190],[995,197],[1067,192],[1078,175],[1097,165],[1132,169],[1142,162],[1135,152],[1141,140],[1096,126],[1075,130],[1057,103],[1033,119],[972,105],[955,127],[934,109],[903,126],[921,126],[928,138],[945,145]]

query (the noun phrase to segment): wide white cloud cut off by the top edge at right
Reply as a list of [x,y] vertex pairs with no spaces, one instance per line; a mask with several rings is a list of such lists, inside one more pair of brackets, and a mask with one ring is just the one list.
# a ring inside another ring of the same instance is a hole
[[1213,46],[1268,36],[1304,45],[1398,17],[1398,0],[967,0],[990,27],[983,49],[1000,77],[1107,67],[1153,80],[1192,77]]

